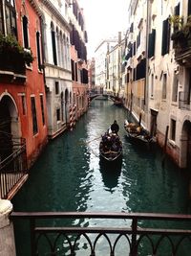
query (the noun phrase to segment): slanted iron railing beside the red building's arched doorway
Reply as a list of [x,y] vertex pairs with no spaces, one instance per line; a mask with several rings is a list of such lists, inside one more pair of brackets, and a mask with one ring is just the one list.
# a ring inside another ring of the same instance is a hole
[[12,140],[12,153],[0,161],[0,198],[9,198],[11,190],[27,173],[25,140],[14,138]]

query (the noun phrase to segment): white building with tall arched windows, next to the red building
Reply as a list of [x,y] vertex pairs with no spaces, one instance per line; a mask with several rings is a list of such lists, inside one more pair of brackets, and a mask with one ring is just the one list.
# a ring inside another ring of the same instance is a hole
[[48,107],[48,135],[54,138],[69,124],[72,72],[67,1],[40,0],[44,14],[44,60]]

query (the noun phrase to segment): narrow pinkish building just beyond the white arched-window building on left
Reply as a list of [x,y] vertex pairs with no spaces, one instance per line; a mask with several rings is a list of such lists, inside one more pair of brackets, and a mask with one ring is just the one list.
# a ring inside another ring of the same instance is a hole
[[71,67],[73,81],[73,105],[71,105],[71,128],[77,120],[88,109],[89,89],[88,89],[88,63],[87,32],[83,9],[80,8],[76,0],[73,1],[69,12],[71,31]]

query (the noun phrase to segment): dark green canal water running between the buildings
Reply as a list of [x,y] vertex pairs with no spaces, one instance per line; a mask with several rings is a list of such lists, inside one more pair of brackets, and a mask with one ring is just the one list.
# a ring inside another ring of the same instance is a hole
[[[190,214],[188,175],[167,157],[162,165],[157,147],[142,149],[128,142],[125,118],[127,110],[111,101],[94,100],[74,130],[51,141],[43,151],[28,181],[11,201],[14,211]],[[114,120],[120,127],[123,159],[121,165],[105,168],[99,163],[98,145],[100,135]],[[18,256],[30,255],[26,226],[23,221],[15,225]],[[185,251],[180,255],[186,255]]]

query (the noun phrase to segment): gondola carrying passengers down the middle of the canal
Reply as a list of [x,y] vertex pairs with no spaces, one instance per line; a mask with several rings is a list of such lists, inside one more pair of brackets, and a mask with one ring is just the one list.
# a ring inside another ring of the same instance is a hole
[[101,136],[99,155],[100,158],[106,162],[116,162],[121,159],[122,142],[117,133],[107,131]]

